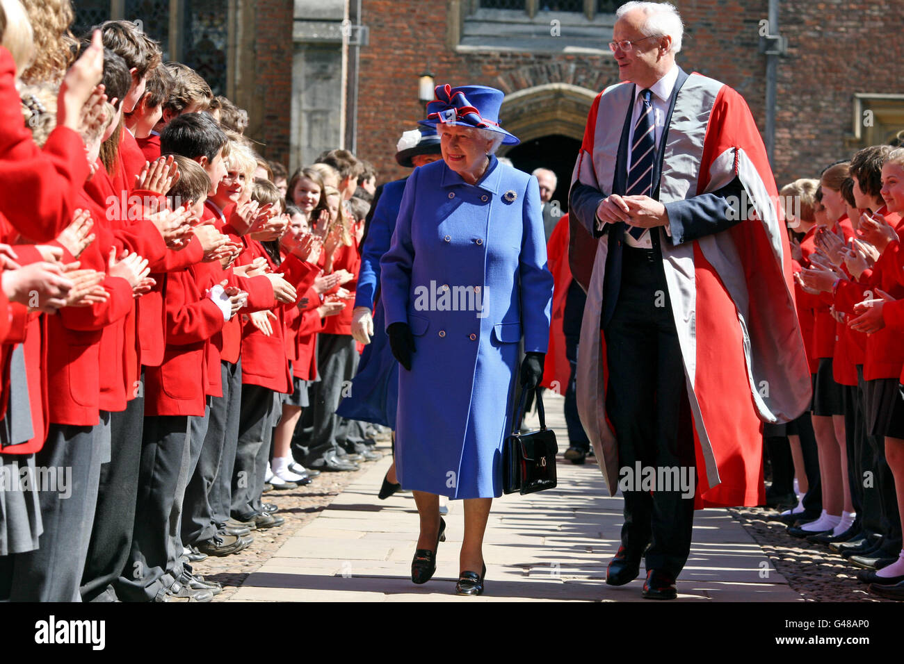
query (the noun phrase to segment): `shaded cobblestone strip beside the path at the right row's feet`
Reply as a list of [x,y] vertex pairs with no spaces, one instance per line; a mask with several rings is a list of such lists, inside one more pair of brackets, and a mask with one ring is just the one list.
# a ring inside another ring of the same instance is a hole
[[860,567],[828,547],[788,535],[775,510],[754,507],[729,512],[807,602],[892,602],[866,592],[867,585],[857,580]]

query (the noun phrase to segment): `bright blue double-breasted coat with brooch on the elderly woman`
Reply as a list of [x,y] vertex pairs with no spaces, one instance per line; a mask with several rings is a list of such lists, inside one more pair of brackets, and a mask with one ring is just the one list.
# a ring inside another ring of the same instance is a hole
[[544,238],[537,179],[493,155],[476,185],[444,161],[409,177],[380,262],[386,327],[408,323],[414,335],[411,370],[399,369],[403,488],[502,495],[518,341],[538,352],[549,342]]

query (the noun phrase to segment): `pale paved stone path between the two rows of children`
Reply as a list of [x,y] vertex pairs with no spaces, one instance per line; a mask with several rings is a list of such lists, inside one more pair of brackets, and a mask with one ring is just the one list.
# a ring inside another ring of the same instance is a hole
[[[546,399],[548,425],[567,446],[560,397]],[[559,486],[494,500],[486,529],[486,591],[457,597],[462,510],[448,502],[447,541],[425,585],[410,580],[418,518],[410,492],[378,500],[389,455],[368,467],[323,510],[298,528],[274,556],[231,594],[231,602],[635,602],[643,577],[607,586],[618,547],[621,498],[610,498],[595,463],[560,460]],[[643,570],[642,570],[643,574]],[[763,550],[727,510],[694,519],[691,557],[678,581],[683,602],[794,602],[792,590]]]

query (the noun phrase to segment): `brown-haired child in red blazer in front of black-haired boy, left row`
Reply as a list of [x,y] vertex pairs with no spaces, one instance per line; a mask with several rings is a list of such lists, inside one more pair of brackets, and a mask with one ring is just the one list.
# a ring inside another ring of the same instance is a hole
[[[210,180],[201,168],[186,172],[169,196],[173,201],[194,201],[193,213],[200,217]],[[207,407],[206,347],[242,301],[237,290],[226,292],[221,284],[202,290],[194,267],[166,275],[166,345],[161,365],[146,367],[145,426],[130,554],[130,568],[142,574],[120,584],[130,599],[154,600],[167,592],[192,594],[183,585],[178,515],[192,474],[192,436],[202,440],[205,428],[198,425]]]

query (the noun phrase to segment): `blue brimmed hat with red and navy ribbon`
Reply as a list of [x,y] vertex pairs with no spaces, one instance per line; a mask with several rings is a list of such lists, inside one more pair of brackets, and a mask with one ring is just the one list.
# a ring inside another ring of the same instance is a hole
[[483,85],[463,85],[452,88],[448,84],[434,89],[437,98],[427,105],[424,126],[457,125],[489,129],[503,135],[505,145],[518,145],[521,141],[499,126],[499,108],[505,97],[502,90]]

